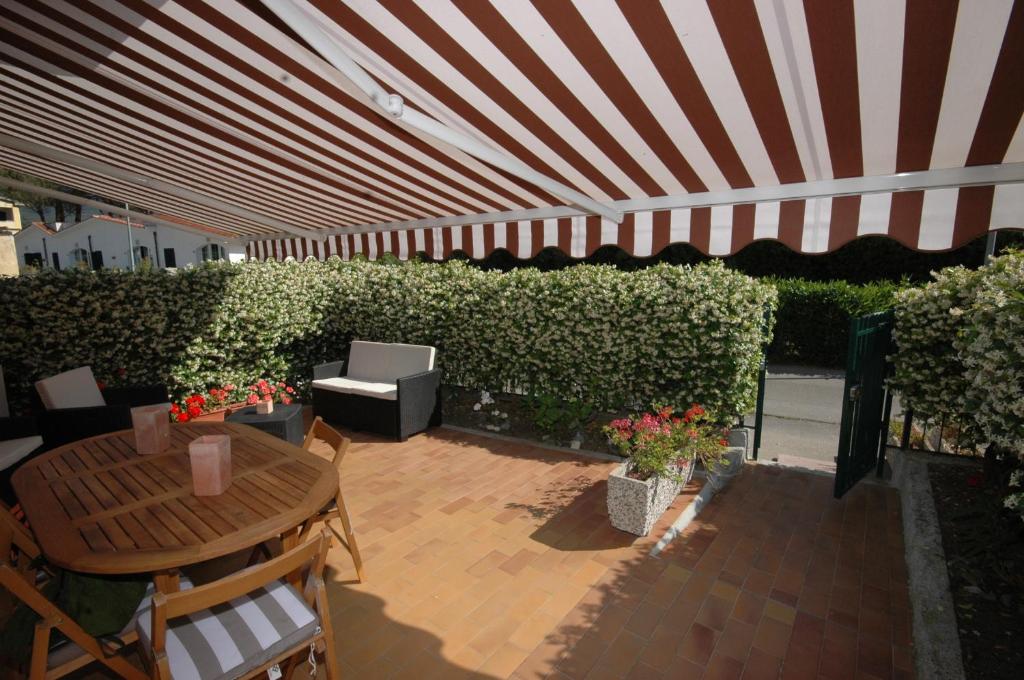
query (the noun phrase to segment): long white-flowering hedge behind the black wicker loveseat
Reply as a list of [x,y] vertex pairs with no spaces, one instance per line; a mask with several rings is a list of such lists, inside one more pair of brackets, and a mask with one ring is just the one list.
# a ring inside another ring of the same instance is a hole
[[[307,385],[353,338],[438,347],[447,384],[617,409],[754,403],[775,290],[721,263],[482,271],[451,262],[210,264],[176,273],[45,270],[0,280],[0,364],[32,382],[91,365],[175,396],[260,377]],[[770,326],[770,325],[769,325]]]

